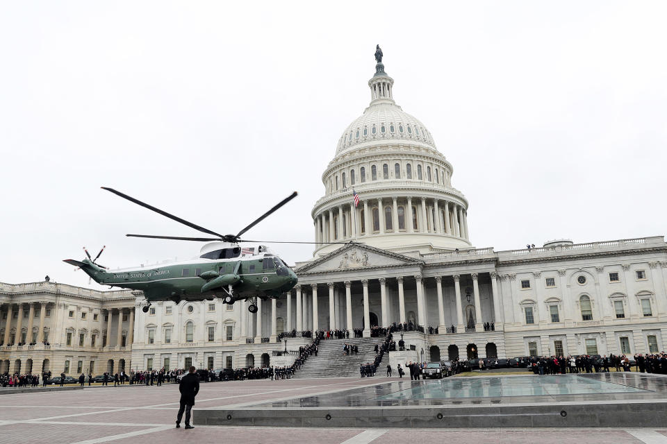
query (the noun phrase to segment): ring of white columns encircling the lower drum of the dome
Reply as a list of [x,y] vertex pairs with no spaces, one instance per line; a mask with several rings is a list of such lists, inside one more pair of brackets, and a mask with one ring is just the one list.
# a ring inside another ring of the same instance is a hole
[[[377,231],[374,230],[375,220],[372,214],[372,209],[376,205],[379,228]],[[387,228],[389,225],[385,216],[386,207],[391,207],[390,229]],[[402,207],[402,224],[400,223],[399,207]],[[416,214],[413,214],[413,207],[415,207]],[[373,198],[363,201],[363,232],[361,218],[361,208],[355,208],[354,202],[324,210],[315,216],[315,241],[333,242],[354,239],[362,235],[370,236],[374,233],[384,234],[399,231],[448,234],[469,239],[466,208],[448,200],[407,197],[405,203],[402,202],[399,205],[397,197]],[[417,219],[416,229],[413,219]]]

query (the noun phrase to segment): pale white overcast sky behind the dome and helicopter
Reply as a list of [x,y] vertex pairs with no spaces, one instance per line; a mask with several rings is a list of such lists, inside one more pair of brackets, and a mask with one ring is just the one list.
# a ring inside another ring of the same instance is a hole
[[664,1],[3,2],[0,282],[88,285],[61,262],[82,246],[112,267],[197,255],[126,238],[199,233],[100,186],[224,233],[297,190],[247,237],[312,241],[377,43],[475,246],[662,235],[666,19]]

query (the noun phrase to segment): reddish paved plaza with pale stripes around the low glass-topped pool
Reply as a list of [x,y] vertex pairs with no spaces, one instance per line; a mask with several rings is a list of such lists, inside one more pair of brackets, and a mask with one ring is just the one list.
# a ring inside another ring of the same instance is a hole
[[[240,407],[299,395],[331,393],[398,378],[329,378],[202,383],[197,409]],[[404,379],[405,380],[405,379]],[[92,387],[0,395],[0,443],[308,443],[406,442],[667,444],[664,429],[356,429],[201,426],[174,428],[176,384]]]

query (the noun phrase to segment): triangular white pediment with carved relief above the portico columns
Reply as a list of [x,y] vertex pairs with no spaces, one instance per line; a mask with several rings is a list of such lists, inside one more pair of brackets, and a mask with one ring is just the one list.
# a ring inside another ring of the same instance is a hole
[[360,244],[349,244],[295,270],[299,273],[347,271],[357,268],[416,265],[422,261]]

